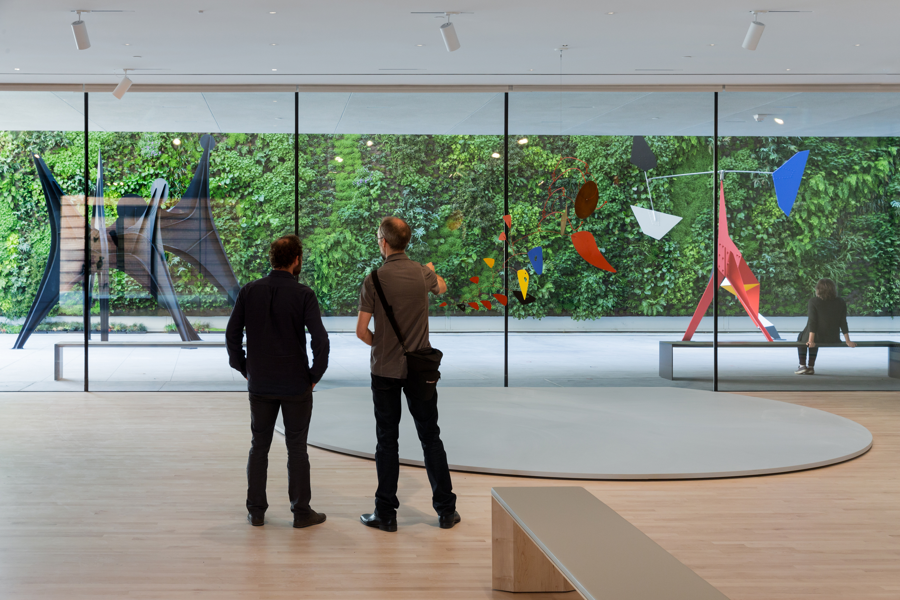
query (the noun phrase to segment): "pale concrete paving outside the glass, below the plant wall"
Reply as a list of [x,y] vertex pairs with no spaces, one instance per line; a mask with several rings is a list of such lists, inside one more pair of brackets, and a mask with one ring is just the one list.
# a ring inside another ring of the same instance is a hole
[[[789,334],[787,335],[789,336]],[[111,334],[111,340],[172,340],[170,334]],[[221,340],[221,334],[204,334]],[[893,334],[859,334],[858,340],[898,340]],[[752,340],[728,334],[722,340]],[[84,389],[84,351],[66,348],[66,379],[53,381],[53,344],[76,341],[75,334],[36,334],[23,350],[15,336],[0,334],[0,391]],[[319,389],[367,387],[369,348],[351,333],[331,333],[329,370]],[[676,348],[676,380],[659,377],[659,341],[671,333],[518,333],[509,335],[509,385],[512,387],[660,387],[712,390],[711,348]],[[708,335],[695,340],[711,339]],[[444,352],[441,386],[502,387],[503,335],[432,334]],[[737,390],[900,390],[887,377],[887,348],[824,348],[813,376],[795,375],[794,348],[719,350],[719,389]],[[228,365],[224,348],[94,348],[90,351],[92,391],[246,390],[240,373]]]

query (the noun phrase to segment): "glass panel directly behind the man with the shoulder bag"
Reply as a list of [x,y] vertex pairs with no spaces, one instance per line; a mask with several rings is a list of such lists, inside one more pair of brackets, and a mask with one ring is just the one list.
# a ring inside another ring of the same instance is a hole
[[410,223],[410,258],[446,279],[429,321],[441,385],[502,386],[503,94],[301,94],[300,128],[301,281],[332,332],[316,389],[371,383],[354,332],[388,215]]

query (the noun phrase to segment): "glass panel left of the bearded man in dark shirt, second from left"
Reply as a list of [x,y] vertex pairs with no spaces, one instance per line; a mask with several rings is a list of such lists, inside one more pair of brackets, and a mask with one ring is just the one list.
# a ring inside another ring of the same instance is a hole
[[92,348],[91,390],[246,390],[223,332],[269,242],[293,233],[293,94],[90,99],[110,282],[92,336],[141,343]]

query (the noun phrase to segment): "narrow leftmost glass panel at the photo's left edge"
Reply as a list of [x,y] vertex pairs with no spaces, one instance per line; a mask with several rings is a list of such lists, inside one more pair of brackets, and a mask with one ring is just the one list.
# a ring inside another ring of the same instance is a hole
[[[0,92],[0,390],[82,390],[84,94]],[[54,232],[56,240],[54,240]],[[55,242],[55,243],[54,243]]]

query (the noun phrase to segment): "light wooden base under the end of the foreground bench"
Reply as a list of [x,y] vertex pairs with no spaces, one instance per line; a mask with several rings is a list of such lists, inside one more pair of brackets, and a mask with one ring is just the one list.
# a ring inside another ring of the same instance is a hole
[[504,592],[575,590],[503,506],[491,497],[492,587]]

